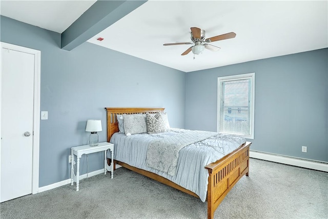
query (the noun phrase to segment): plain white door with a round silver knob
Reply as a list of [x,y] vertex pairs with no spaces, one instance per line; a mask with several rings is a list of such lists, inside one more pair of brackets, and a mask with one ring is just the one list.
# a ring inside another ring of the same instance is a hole
[[32,193],[34,56],[2,49],[1,202]]

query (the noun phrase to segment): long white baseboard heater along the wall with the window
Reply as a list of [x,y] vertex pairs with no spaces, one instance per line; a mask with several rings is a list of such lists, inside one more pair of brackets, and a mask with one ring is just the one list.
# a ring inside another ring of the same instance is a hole
[[265,153],[252,150],[250,151],[250,157],[264,161],[272,161],[281,164],[288,164],[292,166],[328,172],[328,163],[320,161],[305,160],[298,157],[283,156],[279,154]]

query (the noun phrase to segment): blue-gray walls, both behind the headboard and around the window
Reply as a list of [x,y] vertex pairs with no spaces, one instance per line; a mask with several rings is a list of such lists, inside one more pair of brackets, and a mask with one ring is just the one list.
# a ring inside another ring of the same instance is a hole
[[[2,42],[41,51],[40,110],[49,119],[40,121],[40,187],[70,177],[70,148],[87,144],[89,118],[102,121],[99,141],[106,141],[105,107],[166,107],[172,127],[216,131],[217,77],[250,72],[252,149],[328,161],[328,49],[186,74],[89,43],[62,50],[60,34],[7,17],[0,25]],[[89,172],[102,168],[102,157],[89,155]]]

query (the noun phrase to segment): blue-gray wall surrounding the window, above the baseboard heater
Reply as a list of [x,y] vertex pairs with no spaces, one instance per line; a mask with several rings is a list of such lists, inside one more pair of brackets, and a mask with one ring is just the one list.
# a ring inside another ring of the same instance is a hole
[[186,129],[216,131],[217,77],[255,72],[251,149],[327,162],[327,60],[321,49],[187,73]]

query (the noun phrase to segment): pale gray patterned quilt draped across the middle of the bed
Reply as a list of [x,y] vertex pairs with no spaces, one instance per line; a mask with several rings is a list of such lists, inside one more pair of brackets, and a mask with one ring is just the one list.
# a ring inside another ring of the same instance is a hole
[[146,164],[148,167],[173,176],[176,174],[179,151],[183,147],[217,134],[216,132],[185,129],[172,131],[172,135],[163,132],[152,134],[154,139],[148,145]]

